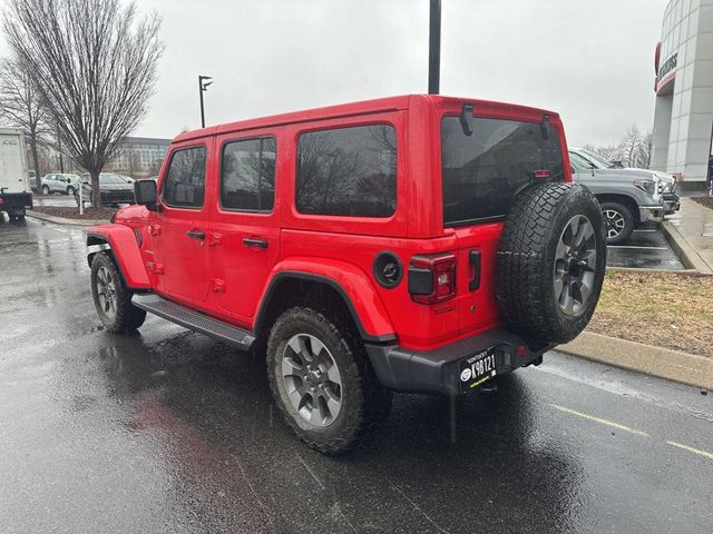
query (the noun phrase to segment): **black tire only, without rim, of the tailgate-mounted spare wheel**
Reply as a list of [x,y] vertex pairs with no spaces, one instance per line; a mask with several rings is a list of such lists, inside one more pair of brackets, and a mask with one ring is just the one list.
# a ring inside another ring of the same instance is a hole
[[[589,296],[574,315],[555,297],[557,246],[573,217],[594,230],[596,259]],[[567,343],[589,323],[602,291],[606,239],[599,205],[578,184],[541,184],[522,190],[505,222],[497,255],[496,296],[510,330],[535,345]]]

